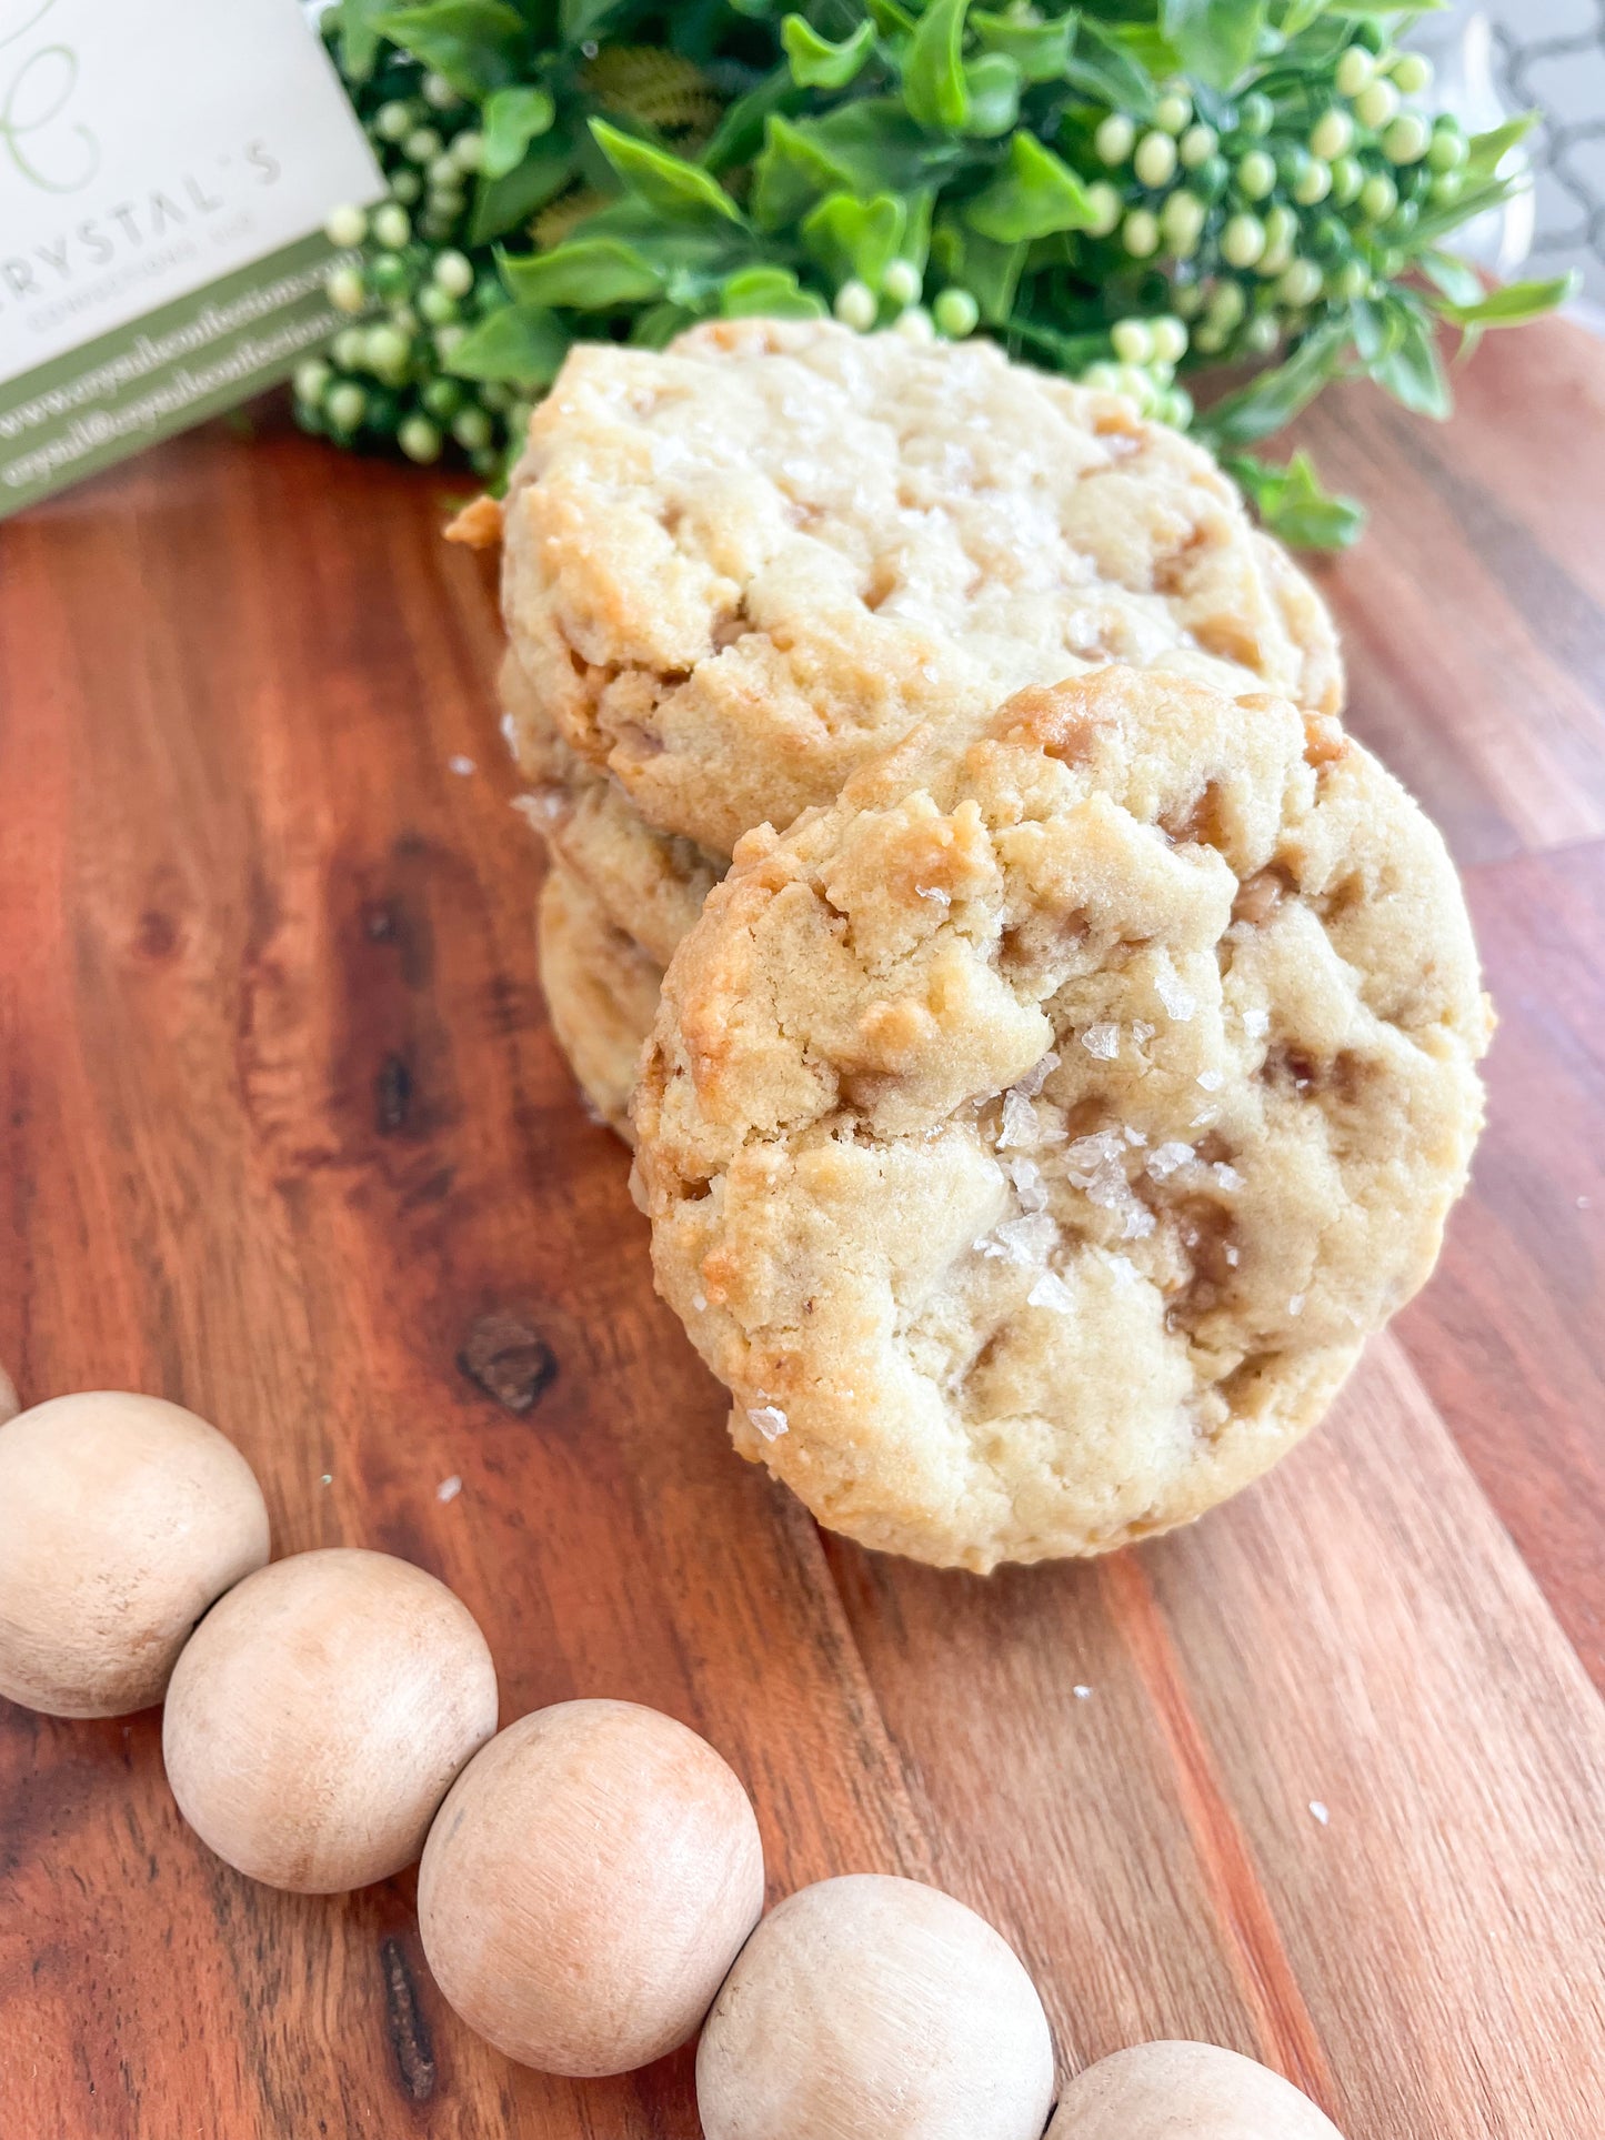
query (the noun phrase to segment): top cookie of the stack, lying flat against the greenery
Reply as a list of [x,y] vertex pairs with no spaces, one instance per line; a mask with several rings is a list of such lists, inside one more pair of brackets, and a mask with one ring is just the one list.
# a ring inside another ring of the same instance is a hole
[[984,340],[828,321],[576,347],[503,614],[569,747],[713,856],[918,721],[1109,661],[1342,702],[1318,595],[1203,447]]

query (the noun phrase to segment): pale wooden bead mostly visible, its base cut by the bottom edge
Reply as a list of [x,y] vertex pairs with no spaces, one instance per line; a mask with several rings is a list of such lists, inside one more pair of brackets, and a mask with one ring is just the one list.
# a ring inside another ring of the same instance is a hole
[[708,2140],[1040,2140],[1053,2042],[1008,1941],[939,1887],[802,1887],[747,1941],[698,2050]]

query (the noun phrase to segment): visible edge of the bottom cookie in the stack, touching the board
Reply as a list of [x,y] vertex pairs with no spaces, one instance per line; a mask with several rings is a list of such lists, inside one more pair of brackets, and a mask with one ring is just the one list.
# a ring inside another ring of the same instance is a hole
[[539,946],[556,1044],[595,1115],[633,1143],[629,1094],[663,969],[561,862],[541,886]]

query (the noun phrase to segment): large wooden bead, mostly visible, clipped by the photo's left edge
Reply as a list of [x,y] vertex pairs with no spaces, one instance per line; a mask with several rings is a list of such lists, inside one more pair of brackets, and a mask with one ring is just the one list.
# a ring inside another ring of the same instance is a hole
[[265,1558],[261,1487],[195,1412],[111,1389],[17,1412],[0,1425],[0,1695],[49,1716],[150,1708],[208,1605]]

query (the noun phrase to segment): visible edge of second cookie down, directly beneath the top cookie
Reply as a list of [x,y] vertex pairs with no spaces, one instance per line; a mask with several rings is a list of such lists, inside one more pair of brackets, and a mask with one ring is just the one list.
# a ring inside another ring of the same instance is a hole
[[511,651],[503,657],[499,696],[503,732],[526,781],[518,809],[614,929],[636,937],[659,967],[668,965],[730,858],[655,832],[618,781],[559,736]]

